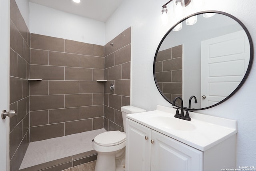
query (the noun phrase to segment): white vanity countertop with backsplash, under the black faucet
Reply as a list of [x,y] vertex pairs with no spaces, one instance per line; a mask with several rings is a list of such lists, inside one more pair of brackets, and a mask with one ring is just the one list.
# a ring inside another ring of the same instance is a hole
[[[189,112],[192,120],[185,121],[175,118],[175,113],[176,109],[174,108],[157,105],[157,109],[154,111],[128,114],[126,117],[201,151],[206,151],[237,133],[237,121],[235,120]],[[186,111],[184,111],[185,113]],[[174,120],[172,120],[178,123],[181,129],[166,127],[166,123],[161,124],[157,119],[152,119],[158,116],[171,117],[171,119],[173,117]],[[195,129],[182,131],[182,127],[186,127],[186,124]]]

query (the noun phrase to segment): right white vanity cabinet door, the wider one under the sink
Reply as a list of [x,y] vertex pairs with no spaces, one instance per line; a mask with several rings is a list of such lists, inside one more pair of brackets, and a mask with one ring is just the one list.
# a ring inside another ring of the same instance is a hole
[[200,171],[202,151],[152,130],[151,170]]

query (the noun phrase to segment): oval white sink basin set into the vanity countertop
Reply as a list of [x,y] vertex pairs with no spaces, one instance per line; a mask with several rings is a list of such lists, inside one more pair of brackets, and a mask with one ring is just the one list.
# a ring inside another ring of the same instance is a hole
[[179,131],[193,131],[196,126],[189,121],[178,119],[175,117],[168,116],[151,116],[148,117],[149,123],[158,124],[159,127],[165,127],[167,129],[175,129]]

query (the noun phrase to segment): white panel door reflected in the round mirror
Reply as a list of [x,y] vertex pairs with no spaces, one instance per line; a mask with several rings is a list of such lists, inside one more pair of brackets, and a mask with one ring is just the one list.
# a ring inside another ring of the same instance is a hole
[[250,45],[242,31],[201,42],[201,107],[222,101],[236,89],[246,73]]

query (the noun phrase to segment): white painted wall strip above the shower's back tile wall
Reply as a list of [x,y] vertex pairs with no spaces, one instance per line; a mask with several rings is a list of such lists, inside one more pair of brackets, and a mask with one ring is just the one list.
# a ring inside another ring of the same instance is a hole
[[31,33],[105,45],[104,22],[29,2]]

